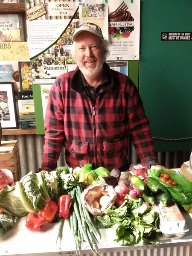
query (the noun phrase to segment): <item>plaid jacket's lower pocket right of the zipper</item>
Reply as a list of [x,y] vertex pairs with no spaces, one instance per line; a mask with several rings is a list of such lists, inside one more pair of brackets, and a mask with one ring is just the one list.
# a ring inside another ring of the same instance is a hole
[[104,164],[105,168],[111,170],[113,168],[122,167],[128,157],[128,138],[115,140],[113,143],[103,142]]

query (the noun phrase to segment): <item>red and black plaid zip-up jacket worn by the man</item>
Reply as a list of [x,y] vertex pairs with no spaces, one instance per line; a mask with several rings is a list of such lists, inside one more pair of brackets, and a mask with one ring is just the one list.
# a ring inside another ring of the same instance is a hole
[[128,169],[128,134],[141,162],[157,162],[148,119],[137,88],[128,76],[104,64],[108,83],[94,105],[84,91],[79,68],[59,76],[49,93],[41,169],[56,168],[61,148],[70,167]]

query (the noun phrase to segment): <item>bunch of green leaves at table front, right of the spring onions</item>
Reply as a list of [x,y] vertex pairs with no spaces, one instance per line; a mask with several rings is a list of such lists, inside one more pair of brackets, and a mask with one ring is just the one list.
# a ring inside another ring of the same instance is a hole
[[158,244],[159,215],[153,207],[147,207],[141,198],[126,198],[121,207],[105,209],[103,216],[96,216],[97,228],[113,227],[119,245],[138,244],[147,241]]

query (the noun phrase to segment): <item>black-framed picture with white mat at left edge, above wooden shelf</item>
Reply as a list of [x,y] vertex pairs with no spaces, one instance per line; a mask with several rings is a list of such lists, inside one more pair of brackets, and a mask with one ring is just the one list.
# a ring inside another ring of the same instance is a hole
[[18,128],[13,82],[0,83],[0,122],[3,129]]

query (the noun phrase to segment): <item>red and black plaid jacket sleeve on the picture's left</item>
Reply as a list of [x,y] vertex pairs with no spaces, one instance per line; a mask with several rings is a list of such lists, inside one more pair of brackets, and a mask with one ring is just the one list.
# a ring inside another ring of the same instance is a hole
[[49,93],[49,101],[45,115],[45,144],[43,164],[40,170],[52,171],[64,143],[64,105],[61,96],[60,79],[55,80]]

